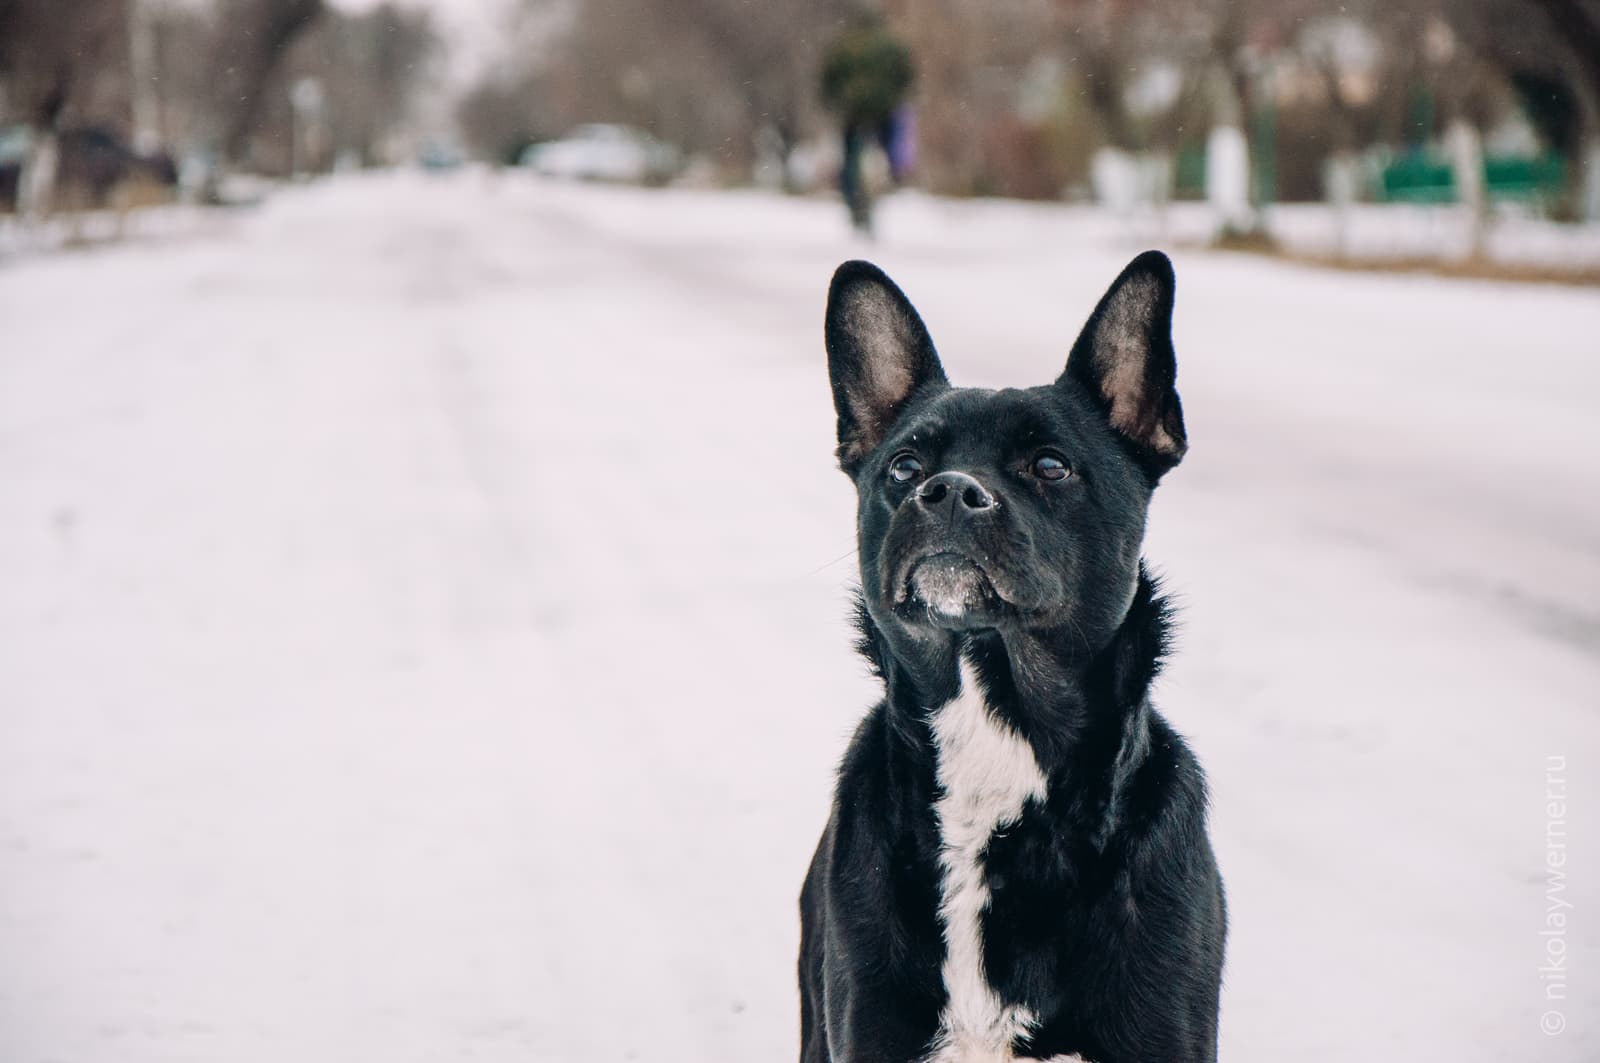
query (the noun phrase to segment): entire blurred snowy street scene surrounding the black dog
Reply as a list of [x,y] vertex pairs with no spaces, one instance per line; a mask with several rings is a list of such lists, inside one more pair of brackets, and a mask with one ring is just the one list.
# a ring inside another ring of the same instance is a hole
[[0,1060],[794,1058],[829,275],[1146,247],[1222,1058],[1600,1058],[1597,0],[0,0]]

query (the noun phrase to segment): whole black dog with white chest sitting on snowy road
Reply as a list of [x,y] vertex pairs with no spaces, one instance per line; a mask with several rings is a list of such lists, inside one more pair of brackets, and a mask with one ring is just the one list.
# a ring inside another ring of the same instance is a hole
[[1117,279],[1053,384],[950,387],[917,311],[827,301],[886,698],[800,895],[802,1063],[1214,1060],[1226,916],[1205,778],[1149,703],[1139,548],[1184,456],[1173,269]]

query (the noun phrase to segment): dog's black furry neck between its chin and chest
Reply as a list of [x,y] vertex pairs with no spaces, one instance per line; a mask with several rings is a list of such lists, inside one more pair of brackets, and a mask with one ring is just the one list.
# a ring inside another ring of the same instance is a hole
[[[1149,749],[1149,688],[1170,637],[1170,610],[1142,568],[1122,623],[1102,645],[1069,629],[982,631],[893,640],[862,610],[861,650],[888,690],[891,730],[914,760],[933,754],[928,716],[976,677],[989,711],[1016,730],[1046,778],[1096,780],[1094,804],[1115,792]],[[962,663],[970,668],[962,668]],[[1109,828],[1110,824],[1104,824]]]

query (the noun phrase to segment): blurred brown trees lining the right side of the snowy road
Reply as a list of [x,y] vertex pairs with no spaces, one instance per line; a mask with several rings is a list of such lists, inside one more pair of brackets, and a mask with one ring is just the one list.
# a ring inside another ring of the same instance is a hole
[[862,11],[910,45],[941,192],[1056,197],[1099,147],[1194,154],[1218,125],[1266,163],[1258,195],[1320,195],[1341,154],[1512,115],[1565,157],[1568,213],[1600,166],[1600,0],[520,0],[462,126],[507,154],[629,122],[738,179],[827,130],[821,54]]

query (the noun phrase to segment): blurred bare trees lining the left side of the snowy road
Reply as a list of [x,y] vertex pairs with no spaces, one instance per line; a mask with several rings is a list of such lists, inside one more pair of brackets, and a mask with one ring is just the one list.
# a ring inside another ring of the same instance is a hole
[[0,0],[0,131],[26,130],[35,176],[64,184],[85,136],[173,171],[381,162],[437,54],[429,18],[398,3]]

